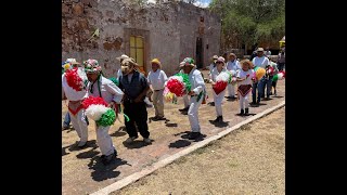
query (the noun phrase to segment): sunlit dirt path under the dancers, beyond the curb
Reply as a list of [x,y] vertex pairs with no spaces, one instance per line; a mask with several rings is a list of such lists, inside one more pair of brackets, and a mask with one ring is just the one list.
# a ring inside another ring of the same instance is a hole
[[[203,72],[207,78],[207,72]],[[213,101],[211,86],[206,83],[207,94]],[[252,98],[252,95],[249,96]],[[240,113],[239,101],[222,102],[223,119],[226,122],[221,125],[213,123],[216,118],[216,108],[208,104],[203,104],[198,110],[198,119],[201,122],[202,133],[204,134],[197,141],[187,139],[187,133],[190,131],[189,119],[187,115],[180,114],[179,108],[183,108],[181,98],[178,104],[165,103],[164,113],[166,120],[154,121],[151,118],[154,116],[154,108],[147,108],[149,112],[149,131],[153,143],[147,145],[142,142],[141,135],[133,144],[126,144],[128,138],[124,129],[124,118],[121,117],[111,127],[108,133],[112,136],[113,143],[118,152],[116,160],[103,166],[100,161],[100,150],[95,142],[94,122],[90,121],[88,126],[89,141],[87,147],[80,150],[76,146],[78,141],[77,133],[74,129],[62,131],[62,192],[66,195],[89,194],[103,188],[116,181],[124,179],[134,172],[142,170],[144,167],[152,165],[155,161],[164,159],[177,152],[194,145],[196,142],[215,135],[224,129],[232,127],[253,115],[256,115],[267,108],[270,108],[285,101],[285,80],[278,82],[278,96],[271,96],[269,101],[262,101],[260,106],[250,107],[249,116],[237,116]],[[64,118],[67,107],[63,101],[62,118]]]

